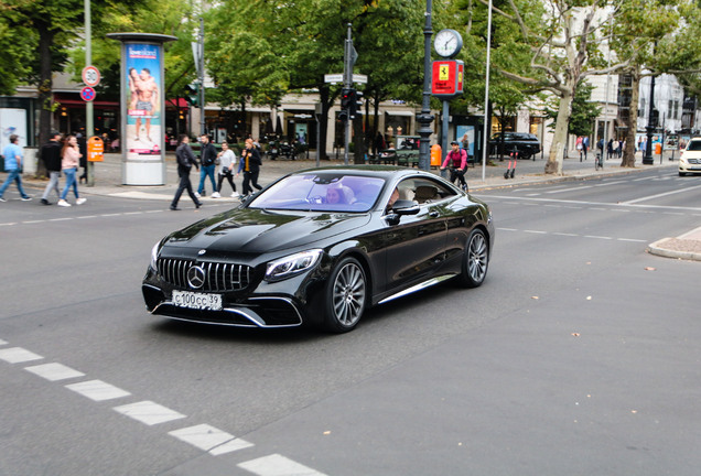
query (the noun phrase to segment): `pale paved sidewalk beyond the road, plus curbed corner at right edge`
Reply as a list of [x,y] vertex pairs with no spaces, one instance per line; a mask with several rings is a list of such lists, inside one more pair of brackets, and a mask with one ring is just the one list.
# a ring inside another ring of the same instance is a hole
[[[335,159],[335,158],[334,158]],[[639,159],[639,158],[638,158]],[[643,170],[649,169],[671,169],[677,166],[676,161],[669,161],[667,158],[660,163],[656,160],[654,165],[643,165],[641,160],[636,162],[635,169],[623,169],[618,166],[619,160],[605,161],[603,171],[594,170],[593,158],[587,161],[580,162],[579,159],[565,159],[563,165],[562,176],[550,176],[543,173],[544,160],[538,159],[535,161],[519,161],[515,177],[504,178],[504,173],[508,170],[508,160],[503,162],[496,158],[492,158],[494,165],[487,165],[485,169],[485,180],[482,180],[482,164],[478,163],[475,167],[470,167],[466,173],[467,183],[471,192],[478,192],[484,190],[505,188],[515,185],[529,185],[529,184],[543,184],[543,183],[558,183],[568,181],[582,181],[602,176],[615,176],[619,174],[630,174]],[[321,166],[343,165],[343,160],[328,160],[321,161]],[[277,160],[271,161],[263,159],[263,165],[260,170],[259,183],[262,186],[268,185],[274,180],[285,175],[288,173],[304,170],[314,169],[316,166],[316,160],[312,153],[310,159],[290,161],[290,160]],[[80,192],[87,196],[116,196],[122,198],[133,199],[155,199],[155,201],[171,201],[177,188],[177,167],[175,164],[175,155],[173,152],[168,152],[165,155],[165,185],[123,185],[122,171],[121,171],[121,154],[105,154],[104,162],[96,162],[94,176],[95,184],[91,187],[86,185],[80,186]],[[432,173],[440,175],[438,169],[432,169]],[[196,171],[191,173],[191,180],[193,187],[196,190],[199,184],[199,174]],[[34,190],[43,190],[46,182],[23,177],[24,183]],[[235,180],[237,184],[237,191],[240,193],[241,177]],[[237,204],[236,198],[229,197],[229,184],[224,182],[222,185],[224,193],[222,198],[211,198],[208,195],[203,197],[202,201],[207,202],[230,202]],[[205,182],[205,190],[207,193],[212,193],[212,183]],[[34,196],[36,196],[34,192]],[[39,201],[36,201],[39,203]],[[664,256],[668,258],[688,259],[701,261],[701,227],[681,235],[677,238],[664,238],[648,247],[648,251],[653,255]]]

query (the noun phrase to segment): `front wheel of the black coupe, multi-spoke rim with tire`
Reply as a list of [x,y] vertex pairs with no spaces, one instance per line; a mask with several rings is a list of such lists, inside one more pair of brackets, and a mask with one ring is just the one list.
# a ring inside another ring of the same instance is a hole
[[325,289],[324,327],[334,333],[353,331],[367,301],[365,270],[355,258],[345,258],[332,271]]

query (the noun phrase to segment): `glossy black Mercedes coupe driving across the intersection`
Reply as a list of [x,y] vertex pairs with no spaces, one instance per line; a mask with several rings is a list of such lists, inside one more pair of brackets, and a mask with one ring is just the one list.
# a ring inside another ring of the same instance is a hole
[[163,238],[142,291],[175,320],[343,333],[446,279],[479,286],[493,245],[488,206],[432,173],[313,169]]

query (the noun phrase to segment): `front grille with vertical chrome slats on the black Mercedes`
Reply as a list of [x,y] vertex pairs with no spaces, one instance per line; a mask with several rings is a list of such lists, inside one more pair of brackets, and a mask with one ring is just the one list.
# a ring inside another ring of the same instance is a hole
[[202,288],[204,292],[240,291],[250,283],[250,267],[217,262],[195,262],[194,260],[159,258],[159,277],[177,288],[193,289],[187,281],[187,271],[193,266],[204,270],[205,279]]

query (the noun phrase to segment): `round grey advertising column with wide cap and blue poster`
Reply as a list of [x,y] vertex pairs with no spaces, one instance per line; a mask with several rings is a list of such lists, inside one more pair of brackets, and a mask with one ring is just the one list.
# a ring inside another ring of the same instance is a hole
[[121,41],[122,184],[165,184],[163,43],[175,36],[109,33]]

